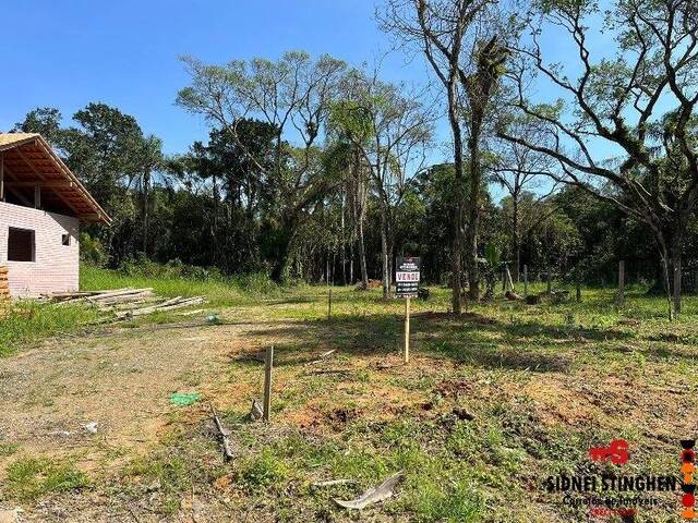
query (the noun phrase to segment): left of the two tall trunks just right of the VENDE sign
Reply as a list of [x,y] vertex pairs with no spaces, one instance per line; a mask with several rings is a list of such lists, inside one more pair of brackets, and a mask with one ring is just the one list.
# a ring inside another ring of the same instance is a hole
[[452,253],[452,306],[454,314],[459,315],[460,307],[460,290],[462,282],[460,280],[462,271],[462,206],[465,199],[464,175],[462,175],[462,135],[460,133],[460,121],[458,117],[458,100],[456,93],[456,83],[452,81],[448,86],[448,121],[450,131],[454,135],[454,241]]

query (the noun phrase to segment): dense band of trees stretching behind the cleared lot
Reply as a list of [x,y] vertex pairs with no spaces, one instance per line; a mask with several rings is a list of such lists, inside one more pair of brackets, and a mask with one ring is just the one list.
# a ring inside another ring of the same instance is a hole
[[[583,21],[600,14],[591,4],[538,5],[524,24],[500,4],[460,3],[395,0],[378,13],[433,68],[422,87],[301,51],[225,65],[183,57],[191,82],[172,96],[210,133],[179,155],[101,102],[70,121],[37,108],[15,130],[41,133],[113,218],[84,231],[93,264],[373,279],[389,296],[395,256],[413,255],[428,281],[454,287],[454,311],[461,287],[479,296],[480,264],[493,257],[516,280],[526,265],[531,278],[552,270],[588,283],[613,282],[624,259],[629,280],[657,292],[676,289],[683,259],[691,290],[690,2],[616,2],[606,24],[617,49],[598,62],[585,42]],[[479,19],[496,22],[468,25]],[[535,23],[578,48],[576,78],[545,64],[540,31],[527,31]],[[544,81],[567,98],[533,101],[527,86]],[[453,159],[433,165],[444,120]]]

